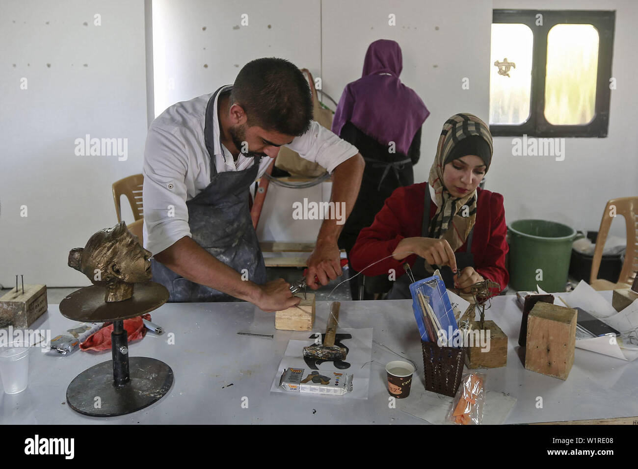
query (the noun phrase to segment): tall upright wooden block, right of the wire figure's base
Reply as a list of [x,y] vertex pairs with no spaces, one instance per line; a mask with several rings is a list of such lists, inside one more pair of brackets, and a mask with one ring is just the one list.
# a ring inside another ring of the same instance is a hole
[[566,380],[574,364],[575,309],[537,302],[527,323],[525,368]]

